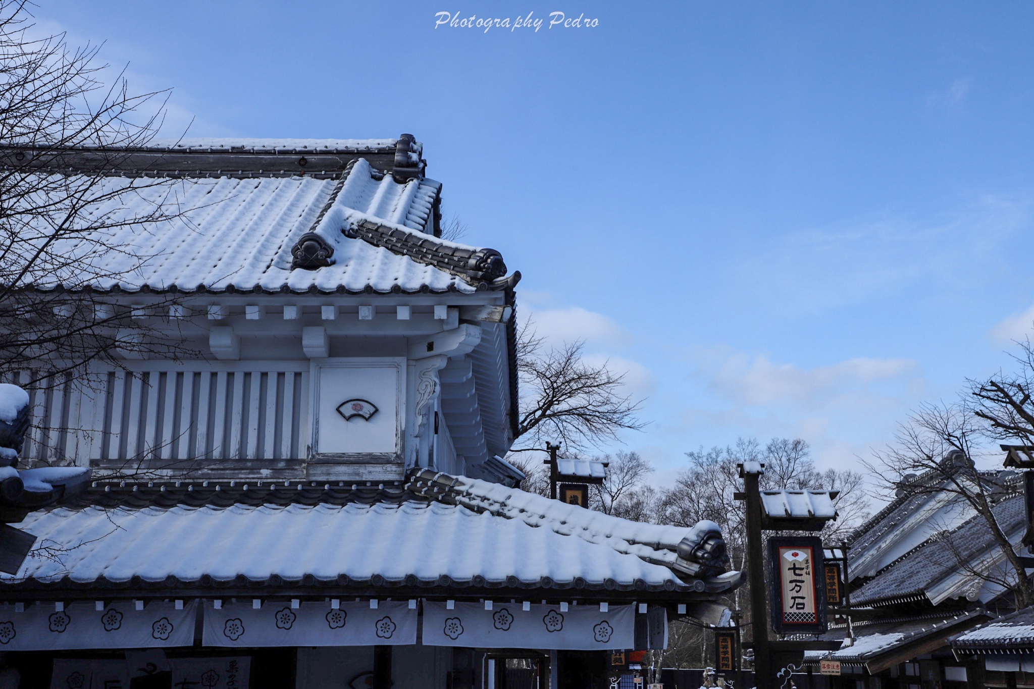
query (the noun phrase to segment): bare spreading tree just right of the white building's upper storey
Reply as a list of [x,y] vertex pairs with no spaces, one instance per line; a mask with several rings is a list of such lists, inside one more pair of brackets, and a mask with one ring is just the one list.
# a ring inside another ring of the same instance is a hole
[[641,430],[641,401],[622,395],[625,375],[608,363],[592,365],[584,343],[547,347],[525,322],[517,338],[517,371],[522,384],[517,437],[512,451],[542,450],[547,440],[566,452],[599,448],[619,440],[621,431]]

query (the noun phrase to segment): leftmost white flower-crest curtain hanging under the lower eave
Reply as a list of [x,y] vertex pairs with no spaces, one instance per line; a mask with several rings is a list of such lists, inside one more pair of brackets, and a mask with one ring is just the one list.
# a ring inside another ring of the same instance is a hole
[[138,610],[133,601],[122,600],[98,610],[91,600],[61,610],[36,603],[19,613],[6,603],[0,607],[0,651],[192,646],[194,605],[176,609],[174,602],[155,601]]

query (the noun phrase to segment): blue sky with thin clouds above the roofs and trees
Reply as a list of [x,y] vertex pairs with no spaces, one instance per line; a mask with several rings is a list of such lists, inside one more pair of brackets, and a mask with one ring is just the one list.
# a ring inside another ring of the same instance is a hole
[[416,134],[662,478],[738,436],[855,467],[1034,322],[1029,3],[39,2],[171,133]]

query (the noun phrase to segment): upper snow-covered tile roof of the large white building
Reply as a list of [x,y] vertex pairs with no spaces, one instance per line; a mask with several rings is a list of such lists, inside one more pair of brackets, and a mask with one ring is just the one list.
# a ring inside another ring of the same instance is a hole
[[[364,159],[352,164],[341,180],[108,177],[90,192],[91,197],[105,200],[95,203],[89,217],[104,218],[108,229],[100,240],[118,249],[91,255],[87,273],[98,276],[91,286],[102,291],[131,292],[145,287],[156,291],[174,287],[183,291],[476,291],[480,276],[506,267],[497,252],[426,233],[439,189],[438,183],[426,179],[396,182]],[[124,193],[111,197],[120,190]],[[163,213],[177,217],[120,226],[120,222],[154,213],[161,203]],[[359,226],[374,229],[352,232]],[[293,269],[292,249],[310,232],[333,251],[331,264]],[[61,255],[89,253],[85,247],[95,247],[89,242],[90,238],[78,247],[69,244],[59,250]],[[42,289],[79,287],[82,280],[82,273],[70,272],[34,276],[34,284]]]

